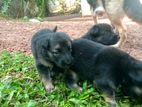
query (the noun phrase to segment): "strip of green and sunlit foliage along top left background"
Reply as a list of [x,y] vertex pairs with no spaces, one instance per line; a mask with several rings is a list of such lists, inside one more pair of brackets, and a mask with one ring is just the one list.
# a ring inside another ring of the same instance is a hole
[[[59,2],[55,12],[50,11],[50,5]],[[22,17],[45,17],[50,15],[79,13],[80,0],[76,0],[70,7],[65,0],[1,0],[0,16],[9,16],[12,18]]]

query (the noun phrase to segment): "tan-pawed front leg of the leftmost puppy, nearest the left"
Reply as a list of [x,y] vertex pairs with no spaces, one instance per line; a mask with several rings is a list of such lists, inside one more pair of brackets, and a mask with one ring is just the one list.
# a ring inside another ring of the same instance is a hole
[[50,77],[50,69],[42,64],[37,64],[36,67],[46,91],[51,91],[54,88],[54,86],[52,84],[52,79]]

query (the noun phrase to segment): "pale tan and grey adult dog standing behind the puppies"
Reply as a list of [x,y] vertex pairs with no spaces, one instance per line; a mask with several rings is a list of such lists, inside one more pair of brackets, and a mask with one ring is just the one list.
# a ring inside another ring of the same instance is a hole
[[112,25],[119,31],[120,40],[115,46],[123,46],[127,39],[124,16],[142,23],[142,0],[88,0],[93,9],[94,20],[99,14],[107,13]]

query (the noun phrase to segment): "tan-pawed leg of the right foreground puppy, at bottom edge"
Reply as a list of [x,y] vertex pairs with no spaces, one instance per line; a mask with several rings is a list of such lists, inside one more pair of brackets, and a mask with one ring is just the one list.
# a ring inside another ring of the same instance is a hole
[[113,84],[111,82],[105,81],[106,79],[102,81],[102,79],[94,80],[93,83],[106,95],[105,101],[110,105],[110,107],[116,107],[115,92],[112,89]]

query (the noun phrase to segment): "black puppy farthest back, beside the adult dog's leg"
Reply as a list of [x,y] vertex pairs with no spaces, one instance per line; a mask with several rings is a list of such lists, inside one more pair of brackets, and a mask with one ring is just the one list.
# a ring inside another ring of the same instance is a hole
[[106,23],[94,25],[82,38],[99,42],[104,45],[114,45],[119,40],[118,33],[115,33],[113,28]]

